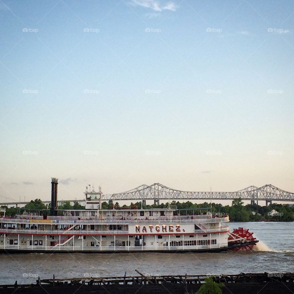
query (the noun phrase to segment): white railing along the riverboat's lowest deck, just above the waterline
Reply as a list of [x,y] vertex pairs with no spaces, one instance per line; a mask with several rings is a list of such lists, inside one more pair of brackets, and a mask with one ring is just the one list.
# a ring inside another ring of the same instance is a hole
[[[59,245],[59,244],[58,244]],[[182,251],[205,250],[228,247],[227,243],[193,246],[39,246],[39,245],[0,245],[0,249],[27,250],[27,251]]]

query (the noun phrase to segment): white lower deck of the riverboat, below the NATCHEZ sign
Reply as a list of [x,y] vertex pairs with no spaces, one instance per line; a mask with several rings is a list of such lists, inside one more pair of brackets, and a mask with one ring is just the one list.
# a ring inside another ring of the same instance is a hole
[[12,251],[215,251],[226,250],[227,233],[182,235],[2,234],[0,250]]

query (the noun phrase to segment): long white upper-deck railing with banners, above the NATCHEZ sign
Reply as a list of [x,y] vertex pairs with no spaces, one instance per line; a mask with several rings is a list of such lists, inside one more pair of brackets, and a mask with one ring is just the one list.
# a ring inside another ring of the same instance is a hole
[[[36,224],[197,224],[197,223],[215,223],[215,222],[227,222],[229,217],[211,217],[211,218],[193,218],[193,219],[135,219],[135,220],[122,220],[111,219],[111,220],[67,220],[63,219],[62,223],[59,223],[58,220],[37,220]],[[35,224],[33,220],[21,219],[21,218],[0,218],[2,223],[13,223],[13,224]]]

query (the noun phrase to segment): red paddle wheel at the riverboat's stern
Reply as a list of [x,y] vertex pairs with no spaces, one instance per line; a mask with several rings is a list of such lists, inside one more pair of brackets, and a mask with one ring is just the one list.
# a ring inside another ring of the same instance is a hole
[[256,238],[253,237],[253,233],[249,232],[248,229],[239,227],[228,233],[228,243],[233,245],[231,248],[233,251],[252,251],[257,242]]

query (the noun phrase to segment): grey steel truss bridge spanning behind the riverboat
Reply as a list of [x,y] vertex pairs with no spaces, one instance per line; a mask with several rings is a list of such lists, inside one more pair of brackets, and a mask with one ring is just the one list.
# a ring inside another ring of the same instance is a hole
[[[175,190],[166,187],[160,183],[154,183],[153,185],[141,185],[132,190],[116,193],[116,194],[104,194],[102,195],[102,201],[118,201],[118,200],[133,200],[133,201],[146,201],[154,200],[159,204],[160,200],[233,200],[235,198],[241,198],[242,200],[250,200],[251,203],[258,200],[271,203],[272,201],[285,201],[294,202],[294,193],[279,189],[273,185],[264,185],[262,187],[249,186],[245,189],[235,192],[188,192]],[[70,201],[71,203],[78,202],[79,204],[85,204],[85,199],[80,200],[59,200],[58,204],[62,202]],[[0,205],[25,205],[29,202],[4,202]],[[43,203],[51,203],[51,201],[43,201]]]

